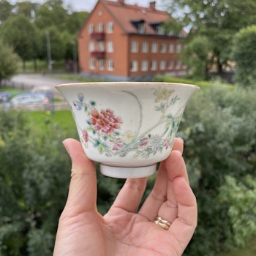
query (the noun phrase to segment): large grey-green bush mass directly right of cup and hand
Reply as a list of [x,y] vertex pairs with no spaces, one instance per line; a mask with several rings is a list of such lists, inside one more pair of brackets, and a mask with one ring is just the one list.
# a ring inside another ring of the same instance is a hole
[[198,227],[186,255],[214,255],[235,244],[232,204],[220,188],[226,176],[241,180],[256,174],[255,97],[255,90],[211,86],[187,105],[179,135],[197,196]]

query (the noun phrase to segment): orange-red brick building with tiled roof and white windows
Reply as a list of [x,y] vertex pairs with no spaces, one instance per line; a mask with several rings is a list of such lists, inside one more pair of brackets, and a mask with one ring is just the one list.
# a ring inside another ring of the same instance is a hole
[[109,80],[151,80],[157,74],[182,75],[179,59],[185,33],[167,34],[167,12],[99,0],[78,35],[80,75]]

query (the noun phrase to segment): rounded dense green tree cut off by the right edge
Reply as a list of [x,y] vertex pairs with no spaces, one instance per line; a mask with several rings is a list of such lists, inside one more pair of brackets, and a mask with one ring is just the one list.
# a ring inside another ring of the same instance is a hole
[[239,31],[233,39],[232,59],[236,61],[234,80],[241,86],[256,86],[256,26]]

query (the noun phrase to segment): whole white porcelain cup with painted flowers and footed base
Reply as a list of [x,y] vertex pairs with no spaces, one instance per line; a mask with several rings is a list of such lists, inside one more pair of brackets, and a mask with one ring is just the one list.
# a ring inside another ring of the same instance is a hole
[[149,176],[173,146],[197,86],[178,83],[74,83],[56,86],[69,102],[86,156],[103,174]]

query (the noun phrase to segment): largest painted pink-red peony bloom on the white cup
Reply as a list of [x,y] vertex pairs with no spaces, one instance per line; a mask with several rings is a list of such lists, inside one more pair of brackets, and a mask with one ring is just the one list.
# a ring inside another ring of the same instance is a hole
[[112,110],[100,110],[93,108],[91,110],[91,118],[89,119],[96,131],[102,131],[105,134],[111,134],[115,129],[120,128],[122,120],[120,117],[114,116]]

